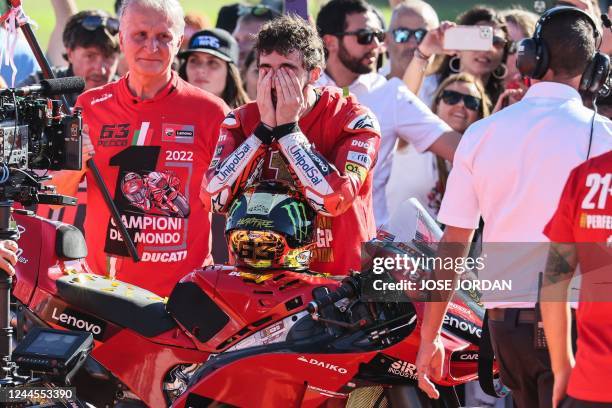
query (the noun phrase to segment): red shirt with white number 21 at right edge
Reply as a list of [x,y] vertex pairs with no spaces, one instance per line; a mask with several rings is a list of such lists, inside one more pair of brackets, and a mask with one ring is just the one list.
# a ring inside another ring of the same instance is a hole
[[578,352],[567,392],[612,402],[612,152],[572,171],[544,233],[553,242],[579,243]]

